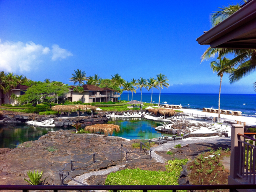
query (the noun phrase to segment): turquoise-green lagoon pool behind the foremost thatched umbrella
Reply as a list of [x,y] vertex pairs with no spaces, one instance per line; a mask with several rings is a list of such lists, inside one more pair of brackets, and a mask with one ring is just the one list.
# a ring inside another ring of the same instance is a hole
[[126,118],[124,120],[111,118],[108,123],[120,126],[120,132],[113,132],[112,136],[126,139],[143,139],[143,131],[145,132],[145,139],[157,138],[161,136],[161,133],[156,131],[155,128],[159,125],[163,125],[162,122],[149,121],[144,118]]

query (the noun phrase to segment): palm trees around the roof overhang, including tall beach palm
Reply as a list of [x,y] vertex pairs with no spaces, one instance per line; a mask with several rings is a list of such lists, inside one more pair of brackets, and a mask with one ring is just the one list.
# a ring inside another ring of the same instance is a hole
[[[211,26],[214,27],[218,23],[222,22],[234,12],[241,8],[241,3],[231,4],[229,6],[219,7],[218,11],[215,11],[210,15]],[[227,59],[225,56],[233,54],[233,59]],[[216,61],[212,61],[211,69],[213,72],[217,72],[220,77],[219,85],[219,119],[220,119],[220,102],[221,102],[221,83],[223,74],[229,74],[230,84],[239,81],[243,77],[251,74],[256,70],[256,50],[255,49],[230,49],[230,48],[211,48],[209,47],[202,55],[202,61],[210,58],[217,58]],[[253,83],[254,90],[256,91],[256,82]]]

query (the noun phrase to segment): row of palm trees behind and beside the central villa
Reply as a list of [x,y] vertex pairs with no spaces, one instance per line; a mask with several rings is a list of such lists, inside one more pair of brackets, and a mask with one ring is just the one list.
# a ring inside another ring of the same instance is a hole
[[141,95],[140,95],[140,102],[142,101],[142,89],[143,87],[146,88],[148,91],[151,90],[151,101],[152,103],[152,96],[153,96],[153,88],[156,88],[159,90],[159,102],[158,106],[160,105],[160,97],[161,97],[161,89],[163,87],[168,88],[169,84],[167,81],[167,77],[163,74],[158,74],[157,78],[149,78],[149,79],[132,79],[130,82],[125,81],[119,74],[114,74],[111,79],[102,79],[99,75],[95,74],[94,76],[86,76],[86,73],[82,70],[77,69],[74,74],[72,74],[72,78],[69,79],[69,82],[74,82],[74,84],[78,83],[80,86],[81,84],[84,84],[86,81],[86,84],[93,84],[98,87],[108,87],[111,89],[116,90],[117,93],[120,94],[120,101],[121,101],[121,94],[123,91],[128,92],[128,101],[129,101],[129,91],[133,93],[136,93],[137,89],[140,89]]

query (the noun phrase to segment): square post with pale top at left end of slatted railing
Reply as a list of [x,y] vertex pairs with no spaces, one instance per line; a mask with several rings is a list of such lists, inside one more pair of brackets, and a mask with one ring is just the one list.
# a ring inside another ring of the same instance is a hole
[[228,184],[235,184],[234,179],[239,178],[237,176],[237,173],[239,173],[240,169],[239,167],[244,166],[240,166],[240,163],[244,162],[242,162],[242,159],[240,160],[239,158],[242,158],[242,156],[240,154],[240,147],[238,146],[238,133],[244,135],[244,126],[240,124],[233,124],[231,127],[230,176],[228,178]]

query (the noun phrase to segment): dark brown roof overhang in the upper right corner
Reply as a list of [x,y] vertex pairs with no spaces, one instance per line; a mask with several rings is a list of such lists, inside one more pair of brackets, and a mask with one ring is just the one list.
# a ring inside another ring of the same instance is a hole
[[211,48],[256,49],[256,0],[196,39]]

